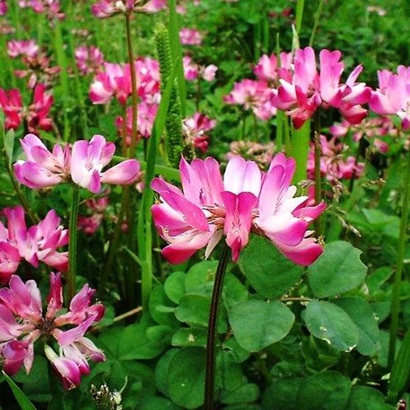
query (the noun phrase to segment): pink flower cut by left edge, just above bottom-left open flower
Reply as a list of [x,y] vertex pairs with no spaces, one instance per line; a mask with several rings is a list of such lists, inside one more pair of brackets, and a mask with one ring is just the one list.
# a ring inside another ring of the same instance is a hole
[[22,207],[5,208],[3,212],[7,228],[0,221],[0,283],[8,283],[22,258],[35,268],[43,261],[59,271],[67,271],[67,252],[57,252],[57,248],[68,243],[68,231],[60,225],[54,210],[29,229]]

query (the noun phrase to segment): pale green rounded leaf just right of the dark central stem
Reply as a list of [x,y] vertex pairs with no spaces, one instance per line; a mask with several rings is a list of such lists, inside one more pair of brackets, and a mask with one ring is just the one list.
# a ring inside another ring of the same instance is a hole
[[292,329],[295,316],[284,304],[274,301],[247,300],[235,304],[229,314],[239,345],[249,352],[283,339]]

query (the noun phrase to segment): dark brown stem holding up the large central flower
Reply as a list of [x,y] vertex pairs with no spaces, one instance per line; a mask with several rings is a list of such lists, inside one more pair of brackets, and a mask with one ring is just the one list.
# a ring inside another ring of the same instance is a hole
[[207,336],[207,363],[205,373],[205,404],[204,410],[213,410],[214,408],[214,377],[215,377],[215,336],[216,325],[218,321],[219,302],[223,289],[223,278],[227,270],[230,248],[227,243],[223,243],[222,255],[216,269],[214,288],[212,291],[211,309],[208,321]]

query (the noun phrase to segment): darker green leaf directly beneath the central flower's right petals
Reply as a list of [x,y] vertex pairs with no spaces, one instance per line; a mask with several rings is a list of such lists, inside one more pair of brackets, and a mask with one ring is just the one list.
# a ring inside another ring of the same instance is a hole
[[244,249],[239,267],[253,288],[274,299],[288,292],[301,278],[304,268],[285,258],[272,244],[255,236]]

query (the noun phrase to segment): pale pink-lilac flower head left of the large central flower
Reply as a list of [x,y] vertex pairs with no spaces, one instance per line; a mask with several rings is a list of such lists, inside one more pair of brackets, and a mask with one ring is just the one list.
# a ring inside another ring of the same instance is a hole
[[45,188],[72,180],[80,187],[99,193],[101,183],[125,185],[136,180],[139,162],[128,159],[103,172],[111,161],[115,145],[102,135],[94,135],[90,142],[79,140],[73,148],[64,150],[54,145],[51,153],[43,142],[33,134],[20,140],[27,160],[14,164],[17,180],[29,188]]

